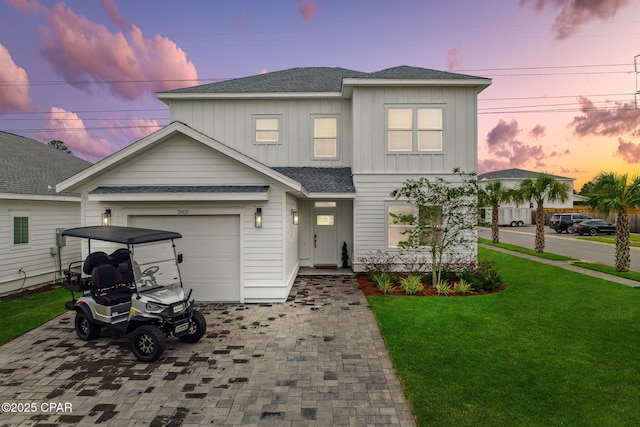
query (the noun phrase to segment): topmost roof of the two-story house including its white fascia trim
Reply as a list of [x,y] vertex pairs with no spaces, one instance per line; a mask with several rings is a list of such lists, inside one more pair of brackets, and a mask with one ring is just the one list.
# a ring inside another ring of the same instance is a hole
[[387,68],[373,73],[348,70],[345,68],[306,67],[274,71],[255,76],[225,80],[199,86],[159,92],[157,97],[175,99],[206,96],[292,96],[294,94],[333,94],[349,96],[351,87],[356,85],[469,85],[485,88],[491,80],[465,74],[437,71],[406,65]]

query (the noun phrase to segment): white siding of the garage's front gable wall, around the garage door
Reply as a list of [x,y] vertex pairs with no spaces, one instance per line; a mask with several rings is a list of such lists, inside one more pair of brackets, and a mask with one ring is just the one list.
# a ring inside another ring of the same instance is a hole
[[[97,186],[136,185],[269,185],[268,201],[89,202],[88,193]],[[143,156],[132,158],[83,188],[86,225],[98,225],[105,209],[112,209],[112,224],[127,225],[128,215],[189,214],[241,215],[241,277],[243,298],[286,299],[286,280],[291,275],[297,249],[295,230],[287,229],[291,198],[284,187],[240,163],[186,136],[171,139]],[[254,226],[256,207],[262,207],[263,226]],[[285,211],[288,215],[284,215]],[[184,211],[182,211],[184,212]],[[284,217],[283,217],[284,215]],[[283,236],[292,234],[283,241]],[[93,249],[93,247],[92,247]],[[295,258],[297,260],[297,258]],[[288,260],[288,264],[285,264]]]

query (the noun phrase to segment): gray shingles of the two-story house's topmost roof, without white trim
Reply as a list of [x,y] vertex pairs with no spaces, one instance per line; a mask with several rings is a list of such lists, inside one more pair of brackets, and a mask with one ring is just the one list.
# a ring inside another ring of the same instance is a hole
[[345,68],[308,67],[274,71],[256,76],[225,80],[161,93],[340,92],[342,90],[342,81],[345,78],[463,80],[478,79],[481,77],[430,70],[427,68],[409,67],[406,65],[388,68],[374,73],[363,73]]

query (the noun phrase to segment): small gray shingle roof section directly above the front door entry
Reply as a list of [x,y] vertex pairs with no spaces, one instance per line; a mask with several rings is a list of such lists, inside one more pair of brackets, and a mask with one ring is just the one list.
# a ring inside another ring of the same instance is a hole
[[274,167],[273,170],[301,183],[311,193],[355,193],[351,168]]

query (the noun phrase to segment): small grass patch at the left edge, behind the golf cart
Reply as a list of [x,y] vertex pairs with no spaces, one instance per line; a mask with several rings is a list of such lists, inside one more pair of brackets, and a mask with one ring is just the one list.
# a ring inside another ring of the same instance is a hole
[[0,345],[64,313],[71,294],[63,288],[0,302]]

